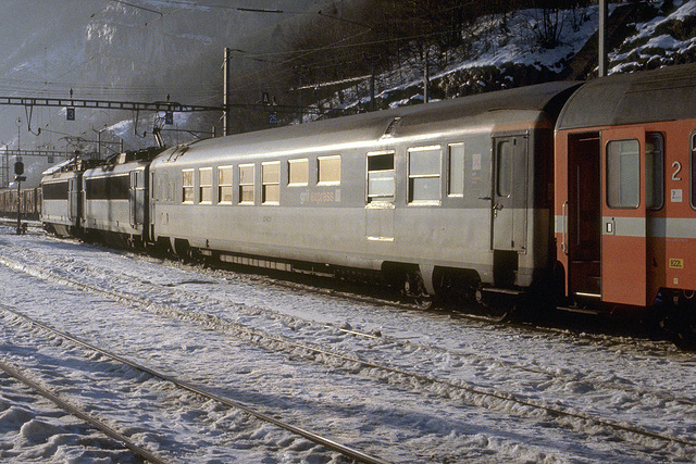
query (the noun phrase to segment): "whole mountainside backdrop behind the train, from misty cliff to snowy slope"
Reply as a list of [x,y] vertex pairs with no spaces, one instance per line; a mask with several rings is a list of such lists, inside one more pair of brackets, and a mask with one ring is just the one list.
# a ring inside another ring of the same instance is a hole
[[[383,41],[371,42],[366,26],[374,29],[384,23],[387,28],[395,20],[363,17],[370,14],[365,5],[384,1],[390,0],[246,2],[283,14],[186,1],[141,0],[139,8],[87,0],[62,5],[11,2],[0,5],[0,18],[20,17],[16,27],[33,33],[1,29],[0,39],[14,46],[0,55],[0,93],[65,98],[73,91],[75,98],[222,104],[221,64],[229,47],[233,101],[253,104],[266,93],[278,104],[319,113],[277,115],[279,124],[297,124],[332,114],[332,109],[362,112],[421,103],[426,70],[431,100],[586,79],[596,73],[595,4],[551,10],[551,16],[548,10],[529,8],[483,14],[457,29],[456,40],[449,30],[445,42],[440,36],[421,42],[418,32],[411,38],[389,33]],[[696,0],[611,3],[610,9],[611,73],[696,60]],[[35,14],[28,16],[28,10]],[[554,40],[544,37],[549,21]],[[376,72],[374,101],[365,76],[371,74],[370,60]],[[126,149],[137,149],[153,145],[152,127],[162,127],[162,114],[85,110],[77,121],[66,122],[64,109],[37,108],[32,120],[29,115],[26,109],[0,109],[0,140],[15,148],[20,134],[22,148],[72,153],[97,151],[94,140],[99,135],[102,142],[123,139]],[[236,131],[271,126],[270,111],[238,110],[234,116]],[[209,137],[213,127],[221,134],[219,114],[176,114],[174,123],[163,126],[167,145]],[[110,150],[102,145],[102,153]],[[45,162],[25,160],[32,181],[38,181]]]

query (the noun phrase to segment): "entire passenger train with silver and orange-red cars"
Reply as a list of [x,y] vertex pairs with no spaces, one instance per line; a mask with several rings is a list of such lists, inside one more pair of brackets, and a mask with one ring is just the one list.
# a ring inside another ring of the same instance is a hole
[[41,221],[184,258],[380,278],[495,319],[563,308],[696,346],[696,65],[69,163]]

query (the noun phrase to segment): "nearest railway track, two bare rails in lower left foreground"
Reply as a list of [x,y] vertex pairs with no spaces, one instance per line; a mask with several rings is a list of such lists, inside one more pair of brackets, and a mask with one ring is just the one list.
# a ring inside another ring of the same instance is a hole
[[[128,366],[133,369],[139,371],[144,374],[147,374],[151,377],[158,378],[160,380],[164,380],[169,384],[174,385],[175,387],[177,387],[178,389],[195,393],[199,397],[201,397],[204,400],[211,400],[214,401],[216,403],[220,403],[226,407],[232,407],[232,409],[236,409],[239,410],[257,419],[260,419],[262,422],[272,424],[278,428],[282,428],[283,430],[286,430],[290,434],[297,435],[299,437],[302,437],[313,443],[320,444],[322,447],[325,447],[328,450],[335,451],[350,460],[353,460],[355,462],[360,462],[360,463],[366,463],[366,464],[386,464],[387,461],[382,460],[380,457],[376,456],[371,456],[366,453],[363,453],[359,450],[356,450],[353,448],[347,447],[345,444],[338,443],[333,439],[323,437],[319,434],[314,434],[312,431],[306,430],[303,428],[297,427],[290,423],[281,421],[274,416],[272,416],[271,414],[268,413],[263,413],[258,411],[257,409],[249,406],[247,404],[244,404],[239,401],[235,401],[233,399],[228,399],[228,398],[224,398],[221,397],[219,394],[215,394],[211,391],[208,391],[208,389],[206,389],[204,387],[201,386],[197,386],[192,383],[189,381],[185,381],[182,379],[178,379],[176,377],[173,377],[172,375],[169,374],[164,374],[162,372],[159,372],[157,369],[147,367],[142,364],[136,363],[134,361],[130,361],[122,355],[115,354],[111,351],[104,350],[102,348],[99,348],[92,343],[89,343],[85,340],[82,340],[77,337],[71,336],[66,333],[57,330],[55,328],[52,328],[41,322],[38,322],[29,316],[27,316],[26,314],[23,314],[14,309],[8,308],[4,304],[0,303],[0,310],[2,310],[5,313],[10,313],[12,315],[14,315],[17,318],[21,318],[23,321],[26,321],[28,323],[30,323],[33,326],[39,327],[40,329],[42,329],[46,333],[50,333],[53,336],[58,336],[64,340],[70,341],[71,343],[74,343],[75,346],[79,346],[82,348],[85,348],[89,351],[94,351],[96,353],[99,353],[112,361],[115,361],[119,364]],[[36,390],[37,392],[39,392],[41,396],[46,397],[48,400],[52,401],[53,403],[55,403],[57,405],[59,405],[60,407],[66,410],[67,412],[70,412],[71,414],[76,415],[77,417],[79,417],[80,419],[86,421],[87,423],[89,423],[90,425],[92,425],[94,427],[98,428],[99,430],[101,430],[102,432],[104,432],[105,435],[108,435],[109,437],[124,443],[124,446],[126,448],[128,448],[129,450],[132,450],[133,452],[135,452],[136,454],[140,455],[142,459],[153,462],[153,463],[166,463],[171,461],[171,457],[164,457],[164,456],[160,456],[157,453],[153,453],[149,450],[146,450],[144,447],[139,447],[137,446],[133,440],[130,440],[129,438],[127,438],[126,436],[124,436],[123,434],[114,430],[112,427],[109,427],[108,425],[105,425],[105,423],[92,417],[91,415],[85,413],[84,411],[75,407],[74,405],[72,405],[69,401],[65,401],[63,399],[61,399],[57,393],[50,391],[49,388],[46,388],[44,386],[41,386],[39,383],[32,380],[29,378],[29,376],[24,375],[20,372],[18,368],[11,366],[9,363],[7,362],[1,362],[0,361],[0,368],[2,371],[4,371],[7,374],[15,377],[16,379],[21,380],[22,383],[24,383],[25,385],[27,385],[28,387],[33,388],[34,390]]]

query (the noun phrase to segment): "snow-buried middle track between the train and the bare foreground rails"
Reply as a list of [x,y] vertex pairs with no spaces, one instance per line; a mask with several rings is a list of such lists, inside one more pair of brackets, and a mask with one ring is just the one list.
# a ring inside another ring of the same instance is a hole
[[[5,263],[5,265],[7,264],[8,263]],[[41,274],[41,272],[38,272],[38,274]],[[323,362],[326,362],[325,360],[333,360],[331,364],[337,363],[339,366],[344,366],[346,368],[355,368],[356,365],[359,365],[361,366],[360,369],[370,371],[371,374],[374,374],[374,372],[382,373],[381,374],[382,378],[390,383],[394,383],[395,377],[402,378],[405,380],[401,381],[401,386],[406,388],[413,388],[413,386],[415,385],[418,386],[419,389],[423,389],[427,391],[438,391],[438,394],[444,397],[463,398],[463,400],[467,402],[477,404],[477,405],[485,405],[486,407],[494,407],[494,409],[496,407],[496,403],[498,403],[498,407],[500,406],[500,403],[508,404],[508,406],[506,407],[509,407],[509,403],[515,403],[518,404],[518,406],[521,406],[524,409],[539,411],[549,417],[554,417],[555,421],[561,424],[563,423],[563,419],[580,419],[588,424],[593,424],[594,426],[600,426],[605,430],[607,429],[613,430],[614,434],[621,434],[621,435],[627,435],[627,436],[631,436],[631,435],[642,436],[642,437],[647,437],[661,442],[679,443],[685,447],[696,447],[696,441],[691,439],[670,436],[668,434],[649,430],[642,426],[635,426],[631,424],[621,423],[618,421],[602,418],[600,416],[596,416],[591,413],[583,413],[583,412],[575,411],[572,407],[564,407],[561,405],[549,405],[549,404],[545,404],[544,402],[533,401],[531,399],[519,397],[514,393],[502,391],[499,389],[498,390],[489,389],[489,388],[477,386],[470,383],[467,384],[467,383],[460,383],[460,381],[438,379],[428,374],[414,373],[409,369],[385,365],[384,363],[381,363],[381,362],[370,361],[370,360],[366,360],[364,356],[359,356],[356,354],[346,355],[346,354],[336,353],[335,350],[332,350],[332,349],[310,346],[307,343],[298,343],[293,339],[288,339],[286,337],[281,337],[277,335],[272,335],[272,334],[269,334],[268,331],[259,330],[257,328],[250,328],[248,326],[239,325],[231,321],[220,318],[219,316],[210,313],[191,313],[190,311],[182,311],[178,308],[165,305],[162,303],[156,303],[152,300],[138,298],[133,294],[124,294],[111,289],[99,288],[91,284],[86,284],[85,281],[71,280],[65,276],[52,276],[49,278],[57,279],[59,281],[63,280],[76,287],[87,288],[89,291],[100,292],[102,294],[109,294],[112,298],[120,299],[123,301],[128,301],[133,304],[137,304],[138,306],[147,309],[148,311],[156,311],[158,313],[165,314],[167,316],[186,318],[187,321],[194,319],[198,324],[201,324],[217,330],[220,330],[221,328],[224,328],[225,333],[232,331],[237,336],[245,337],[245,339],[247,339],[248,341],[266,346],[273,350],[282,349],[293,354],[302,353],[306,358],[314,361],[324,360]],[[135,281],[130,281],[130,285],[133,284],[135,284]],[[151,285],[149,286],[152,288]],[[181,291],[181,289],[176,289],[175,287],[162,287],[162,288],[169,290],[170,299],[172,300],[174,300],[174,298],[172,298],[173,293],[177,296],[176,299],[179,299],[182,294],[187,293],[187,292]],[[187,296],[187,298],[189,297],[190,294]],[[204,300],[210,303],[214,299],[207,297]],[[216,304],[223,303],[227,305],[231,304],[229,301],[215,301],[215,303]],[[263,309],[248,308],[248,306],[245,309],[245,311],[250,311],[256,313],[264,312]],[[266,313],[270,312],[271,314],[274,313],[269,310],[265,310],[265,312]],[[332,329],[336,329],[336,328],[332,327]],[[352,330],[352,329],[338,328],[337,330],[339,331],[344,330],[350,334],[351,337],[363,337],[366,340],[373,340],[373,341],[376,340],[380,343],[400,344],[402,349],[407,351],[408,350],[418,351],[426,348],[423,344],[402,342],[394,339],[388,339],[385,337],[374,336],[372,334],[360,334],[359,331]],[[435,350],[433,347],[427,347],[427,349],[430,350],[431,353],[438,351],[438,350]],[[440,352],[444,351],[446,354],[449,354],[449,355],[455,354],[455,352],[451,350],[439,350],[439,351]],[[540,374],[540,375],[554,377],[554,374],[550,373],[549,369],[544,369],[543,367],[526,367],[523,365],[511,365],[510,363],[504,362],[501,360],[496,360],[495,358],[492,359],[490,356],[472,355],[471,353],[456,353],[456,354],[460,356],[464,354],[464,358],[473,356],[473,358],[476,358],[476,361],[478,362],[482,362],[482,361],[494,362],[495,364],[497,364],[502,368],[515,368],[520,371],[526,371],[533,374]],[[573,381],[573,379],[576,379],[575,376],[570,374],[564,374],[562,376],[556,375],[555,377],[556,379],[561,379],[562,381]],[[631,388],[620,388],[619,386],[607,385],[606,383],[594,383],[594,385],[602,388],[621,389],[623,391],[629,391],[632,394],[636,394],[636,396],[645,396],[645,394],[654,396],[656,398],[661,398],[664,401],[675,401],[685,405],[694,404],[694,401],[689,398],[679,398],[675,396],[664,394],[658,391],[649,391],[645,389],[641,390],[641,389],[631,389]]]

